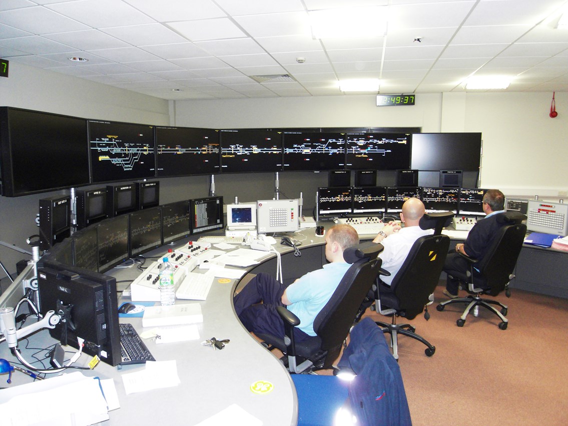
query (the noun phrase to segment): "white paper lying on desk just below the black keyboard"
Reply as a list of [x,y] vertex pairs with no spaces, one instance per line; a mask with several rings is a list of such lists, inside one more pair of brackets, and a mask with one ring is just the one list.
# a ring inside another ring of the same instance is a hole
[[126,394],[145,392],[162,387],[174,387],[181,383],[176,361],[146,361],[144,370],[122,375]]

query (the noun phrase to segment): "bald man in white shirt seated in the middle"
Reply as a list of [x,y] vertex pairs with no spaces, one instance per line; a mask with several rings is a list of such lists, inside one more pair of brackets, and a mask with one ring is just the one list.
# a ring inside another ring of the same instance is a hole
[[402,205],[400,222],[404,223],[404,228],[399,224],[390,222],[379,231],[373,243],[381,243],[383,250],[379,257],[383,260],[381,268],[386,269],[391,274],[389,277],[381,275],[381,281],[386,285],[391,285],[392,279],[406,260],[408,252],[414,242],[424,235],[432,235],[433,229],[421,229],[419,227],[420,218],[424,215],[424,203],[418,198],[409,198]]

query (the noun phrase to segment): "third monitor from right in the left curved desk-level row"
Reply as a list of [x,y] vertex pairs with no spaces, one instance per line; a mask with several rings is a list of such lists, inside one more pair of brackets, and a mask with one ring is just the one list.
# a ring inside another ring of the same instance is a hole
[[146,208],[130,214],[130,255],[137,256],[162,245],[162,210]]

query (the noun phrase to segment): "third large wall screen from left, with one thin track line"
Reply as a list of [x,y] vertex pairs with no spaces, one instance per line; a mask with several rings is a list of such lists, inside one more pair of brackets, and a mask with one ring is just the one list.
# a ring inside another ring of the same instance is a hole
[[156,127],[157,176],[219,173],[219,131]]

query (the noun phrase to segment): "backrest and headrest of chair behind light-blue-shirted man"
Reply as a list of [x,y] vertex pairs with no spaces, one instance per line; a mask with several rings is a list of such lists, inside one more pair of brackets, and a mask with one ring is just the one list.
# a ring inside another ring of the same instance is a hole
[[[369,243],[345,250],[344,258],[352,265],[331,299],[314,319],[314,331],[321,339],[321,349],[331,351],[343,344],[361,302],[369,293],[381,268],[382,261],[377,256],[382,250],[381,244]],[[331,361],[335,361],[335,358]]]

